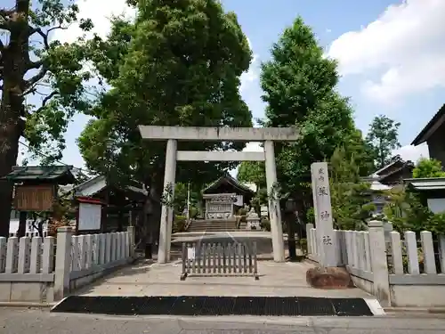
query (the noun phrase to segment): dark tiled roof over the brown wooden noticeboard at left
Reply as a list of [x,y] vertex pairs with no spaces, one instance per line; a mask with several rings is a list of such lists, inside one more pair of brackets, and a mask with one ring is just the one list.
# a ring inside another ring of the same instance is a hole
[[12,167],[12,172],[2,179],[16,183],[43,182],[57,184],[76,183],[76,177],[71,173],[72,166],[28,166]]

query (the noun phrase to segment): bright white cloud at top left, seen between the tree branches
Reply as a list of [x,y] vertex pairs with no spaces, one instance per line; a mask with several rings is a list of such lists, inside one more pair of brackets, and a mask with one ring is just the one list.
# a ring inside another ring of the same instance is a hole
[[[88,32],[86,37],[93,37],[93,33],[100,37],[106,37],[111,29],[109,20],[113,16],[123,14],[127,18],[132,18],[135,15],[134,8],[129,7],[125,0],[111,0],[106,4],[99,0],[78,0],[76,4],[79,7],[78,19],[93,20],[93,31]],[[69,29],[55,30],[52,38],[72,43],[83,35],[84,32],[76,24],[73,24],[69,26]]]

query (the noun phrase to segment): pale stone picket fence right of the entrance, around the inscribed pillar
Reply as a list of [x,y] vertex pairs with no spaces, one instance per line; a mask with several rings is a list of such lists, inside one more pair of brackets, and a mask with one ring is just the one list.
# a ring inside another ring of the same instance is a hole
[[[318,262],[320,236],[307,224],[308,258]],[[401,238],[402,237],[402,238]],[[338,265],[344,265],[360,289],[383,306],[445,306],[445,237],[433,233],[389,232],[371,221],[368,231],[335,231]]]

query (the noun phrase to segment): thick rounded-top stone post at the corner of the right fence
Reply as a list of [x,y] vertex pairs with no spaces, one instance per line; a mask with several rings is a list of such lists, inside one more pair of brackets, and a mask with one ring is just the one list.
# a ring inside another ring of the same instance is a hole
[[384,240],[384,224],[371,220],[368,223],[371,270],[374,277],[374,295],[384,307],[391,306],[388,262]]

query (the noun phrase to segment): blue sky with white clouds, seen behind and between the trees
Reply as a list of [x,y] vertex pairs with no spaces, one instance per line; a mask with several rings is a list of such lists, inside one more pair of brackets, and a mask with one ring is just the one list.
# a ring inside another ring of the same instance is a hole
[[[111,13],[125,10],[124,0],[79,1],[81,16],[89,17],[96,32],[105,35]],[[400,142],[405,159],[427,156],[425,147],[409,145],[445,102],[445,14],[443,0],[223,0],[236,12],[255,60],[242,77],[241,94],[255,118],[263,118],[259,65],[270,57],[271,45],[300,15],[312,26],[328,56],[339,61],[339,90],[352,98],[357,126],[364,132],[378,114],[401,122]],[[131,14],[131,12],[127,12]],[[76,39],[78,30],[57,38]],[[63,162],[82,167],[76,138],[85,125],[77,116],[67,133]],[[249,145],[250,150],[256,150]]]

